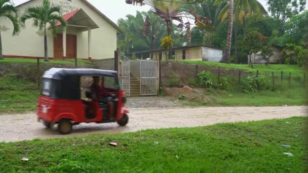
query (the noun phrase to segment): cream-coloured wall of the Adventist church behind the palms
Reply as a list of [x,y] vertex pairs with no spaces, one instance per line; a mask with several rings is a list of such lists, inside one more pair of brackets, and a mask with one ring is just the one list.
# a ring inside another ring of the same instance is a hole
[[[51,2],[59,4],[59,2],[67,2],[64,0],[51,0]],[[40,5],[42,1],[32,0],[31,2],[18,7],[21,13],[27,7]],[[113,58],[114,51],[117,49],[117,30],[108,23],[103,17],[89,8],[81,0],[72,1],[71,6],[82,8],[90,18],[100,27],[92,30],[92,47],[90,57],[92,59]],[[0,18],[0,25],[10,28],[6,32],[2,32],[3,54],[16,56],[44,57],[44,37],[38,35],[37,28],[32,27],[32,20],[26,22],[26,28],[21,30],[18,36],[12,37],[13,25],[9,20]],[[73,29],[67,30],[68,34],[77,35],[77,58],[88,58],[88,31],[76,32]],[[53,36],[48,33],[48,56],[53,57]]]

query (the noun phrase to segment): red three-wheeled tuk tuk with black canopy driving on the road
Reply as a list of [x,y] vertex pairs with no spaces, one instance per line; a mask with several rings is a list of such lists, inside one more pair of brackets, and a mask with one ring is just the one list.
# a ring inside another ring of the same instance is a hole
[[[82,76],[103,77],[104,80],[111,81],[113,85],[106,89],[112,97],[100,101],[91,98],[92,93],[88,91],[86,98],[82,99]],[[128,123],[126,97],[121,90],[116,71],[52,68],[44,73],[42,84],[37,104],[38,121],[43,121],[48,128],[58,124],[58,131],[61,134],[71,133],[72,126],[80,123],[118,122],[121,126]],[[113,117],[108,115],[110,110],[106,100],[114,105]]]

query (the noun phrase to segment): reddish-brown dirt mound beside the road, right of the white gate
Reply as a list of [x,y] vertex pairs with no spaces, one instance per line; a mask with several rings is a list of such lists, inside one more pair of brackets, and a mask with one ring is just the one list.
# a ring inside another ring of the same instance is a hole
[[164,88],[164,94],[174,98],[184,95],[185,100],[209,101],[209,98],[203,94],[203,89],[193,89],[189,86],[183,86],[182,88]]

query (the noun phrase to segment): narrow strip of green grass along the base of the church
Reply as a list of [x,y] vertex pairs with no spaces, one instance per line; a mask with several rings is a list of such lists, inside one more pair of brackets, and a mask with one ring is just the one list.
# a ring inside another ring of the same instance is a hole
[[[36,59],[26,59],[26,58],[5,58],[4,60],[0,60],[0,64],[5,63],[36,63]],[[54,63],[54,64],[74,64],[74,59],[69,60],[49,60],[45,62],[43,59],[40,60],[40,63]],[[91,64],[90,61],[87,60],[78,60],[78,65],[82,64]]]

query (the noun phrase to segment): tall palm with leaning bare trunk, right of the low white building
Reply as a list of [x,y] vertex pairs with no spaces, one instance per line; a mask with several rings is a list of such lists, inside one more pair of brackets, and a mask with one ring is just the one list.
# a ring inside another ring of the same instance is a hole
[[[230,20],[230,16],[228,14],[230,14],[230,10],[232,8],[230,7],[230,3],[231,1],[229,0],[216,0],[214,5],[222,5],[223,3],[227,3],[224,8],[221,10],[221,12],[219,13],[218,18],[221,20],[221,22],[224,22],[227,17],[229,17]],[[233,10],[234,13],[234,17],[232,18],[233,20],[235,20],[235,42],[236,42],[236,59],[238,62],[238,57],[237,57],[237,34],[238,34],[238,24],[243,24],[245,21],[245,17],[249,17],[252,14],[259,14],[259,15],[268,15],[266,10],[264,9],[264,7],[257,1],[257,0],[249,0],[249,1],[242,1],[242,0],[234,0],[234,5],[233,7],[235,8],[235,10]],[[229,10],[230,9],[230,10]],[[244,10],[245,9],[245,10]],[[229,22],[230,23],[230,22]],[[232,29],[232,28],[231,28]],[[228,30],[228,37],[229,37],[229,30]],[[231,33],[231,38],[227,39],[229,41],[231,41],[232,39],[232,33]],[[231,42],[227,42],[227,45],[231,46]],[[229,62],[229,57],[230,57],[230,49],[228,49],[228,47],[226,48],[226,55],[223,56],[223,58],[221,59],[222,62]]]

